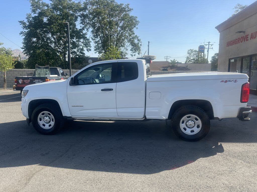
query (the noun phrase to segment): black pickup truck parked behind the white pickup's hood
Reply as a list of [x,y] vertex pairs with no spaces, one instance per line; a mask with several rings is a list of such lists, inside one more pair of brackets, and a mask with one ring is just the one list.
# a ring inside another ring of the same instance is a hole
[[60,67],[36,65],[34,73],[27,73],[27,76],[23,77],[15,77],[14,83],[15,89],[22,91],[23,88],[27,85],[68,78],[68,74],[64,73]]

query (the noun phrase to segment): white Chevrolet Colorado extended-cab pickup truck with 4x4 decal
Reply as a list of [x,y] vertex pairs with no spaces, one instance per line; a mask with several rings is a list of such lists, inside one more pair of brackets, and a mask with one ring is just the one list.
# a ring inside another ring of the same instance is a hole
[[[54,134],[65,119],[171,120],[186,141],[203,138],[210,120],[248,121],[248,76],[232,72],[151,75],[141,59],[92,63],[67,80],[26,86],[22,114],[42,134]],[[158,129],[158,127],[156,127]]]

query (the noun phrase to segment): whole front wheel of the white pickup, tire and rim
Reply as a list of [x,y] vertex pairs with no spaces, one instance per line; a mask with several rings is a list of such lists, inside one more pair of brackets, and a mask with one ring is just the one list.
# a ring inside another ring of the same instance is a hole
[[61,128],[62,114],[54,104],[41,104],[33,111],[31,122],[39,133],[52,135]]

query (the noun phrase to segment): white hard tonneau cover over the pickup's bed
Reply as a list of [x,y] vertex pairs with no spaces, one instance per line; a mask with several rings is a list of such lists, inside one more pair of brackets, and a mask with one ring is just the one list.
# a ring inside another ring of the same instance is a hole
[[247,74],[235,72],[187,72],[152,75],[147,81],[180,81],[180,80],[207,80],[207,79],[244,79]]

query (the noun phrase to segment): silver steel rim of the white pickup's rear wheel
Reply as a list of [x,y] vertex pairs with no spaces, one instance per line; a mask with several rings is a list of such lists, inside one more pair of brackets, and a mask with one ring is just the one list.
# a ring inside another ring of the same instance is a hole
[[187,135],[195,135],[201,130],[202,122],[198,116],[188,114],[181,118],[179,126],[183,133]]

